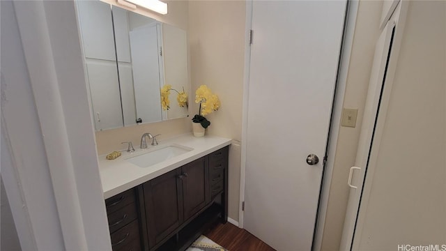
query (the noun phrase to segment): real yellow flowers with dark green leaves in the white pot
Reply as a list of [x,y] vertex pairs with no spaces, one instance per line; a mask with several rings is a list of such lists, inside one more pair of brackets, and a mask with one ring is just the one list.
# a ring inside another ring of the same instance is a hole
[[192,121],[194,123],[201,123],[203,128],[208,128],[210,126],[210,121],[208,121],[204,115],[208,115],[220,108],[220,98],[206,85],[201,85],[197,91],[195,91],[195,102],[200,104],[198,114],[194,116]]

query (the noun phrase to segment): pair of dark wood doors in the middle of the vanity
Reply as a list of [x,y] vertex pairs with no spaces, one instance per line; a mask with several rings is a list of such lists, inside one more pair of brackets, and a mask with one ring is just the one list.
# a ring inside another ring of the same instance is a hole
[[207,158],[199,158],[142,185],[150,248],[208,204]]

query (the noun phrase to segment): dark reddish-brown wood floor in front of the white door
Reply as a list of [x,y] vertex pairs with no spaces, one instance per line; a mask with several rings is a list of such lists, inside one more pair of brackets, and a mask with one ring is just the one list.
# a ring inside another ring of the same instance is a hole
[[240,229],[229,222],[218,223],[204,235],[229,251],[275,251],[249,231]]

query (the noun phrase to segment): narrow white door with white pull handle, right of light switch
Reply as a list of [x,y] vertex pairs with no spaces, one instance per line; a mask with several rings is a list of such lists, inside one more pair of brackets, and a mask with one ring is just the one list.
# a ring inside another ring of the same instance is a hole
[[364,170],[366,169],[369,160],[369,150],[374,135],[378,106],[380,104],[380,93],[385,81],[387,59],[390,56],[389,52],[392,47],[391,42],[394,34],[394,27],[394,22],[388,22],[378,38],[378,42],[376,42],[374,63],[371,68],[369,91],[367,93],[360,141],[355,161],[356,167],[351,167],[349,174],[350,178],[348,178],[347,181],[351,190],[348,197],[344,231],[342,232],[341,246],[339,250],[350,250],[351,242],[353,240],[353,231],[355,229],[357,209],[360,202],[362,181],[364,181]]

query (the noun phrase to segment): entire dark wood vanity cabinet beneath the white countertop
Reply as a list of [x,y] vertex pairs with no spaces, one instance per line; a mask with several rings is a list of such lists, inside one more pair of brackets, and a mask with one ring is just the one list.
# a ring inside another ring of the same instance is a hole
[[212,221],[226,222],[228,148],[107,199],[113,250],[185,250]]

